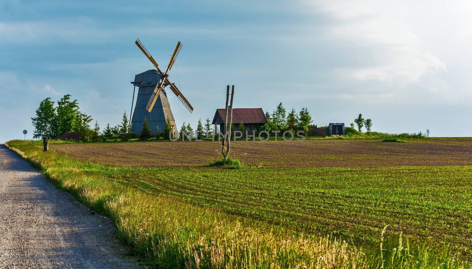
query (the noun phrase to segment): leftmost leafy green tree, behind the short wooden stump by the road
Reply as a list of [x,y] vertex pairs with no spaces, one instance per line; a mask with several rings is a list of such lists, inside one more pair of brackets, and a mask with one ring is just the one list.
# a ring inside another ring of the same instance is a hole
[[36,117],[31,118],[34,133],[33,138],[38,139],[47,136],[50,139],[58,137],[58,122],[54,101],[46,98],[41,101],[36,109]]

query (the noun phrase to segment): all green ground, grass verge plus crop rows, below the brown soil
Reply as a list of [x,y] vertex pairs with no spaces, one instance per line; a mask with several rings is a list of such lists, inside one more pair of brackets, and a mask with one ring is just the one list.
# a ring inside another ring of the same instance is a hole
[[8,144],[157,268],[472,268],[471,166],[129,169]]

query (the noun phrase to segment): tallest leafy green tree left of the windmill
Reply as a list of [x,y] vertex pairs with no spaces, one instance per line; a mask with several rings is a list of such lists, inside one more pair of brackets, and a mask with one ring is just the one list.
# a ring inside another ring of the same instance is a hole
[[58,136],[72,132],[80,114],[77,100],[70,101],[70,97],[70,94],[64,95],[63,98],[60,98],[56,107],[59,125]]

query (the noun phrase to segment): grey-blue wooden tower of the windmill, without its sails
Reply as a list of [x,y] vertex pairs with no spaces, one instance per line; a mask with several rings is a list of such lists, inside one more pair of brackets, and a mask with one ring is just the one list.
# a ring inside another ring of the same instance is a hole
[[[177,127],[174,115],[170,109],[169,99],[165,89],[162,89],[151,112],[148,112],[146,106],[151,98],[156,84],[161,78],[157,70],[151,69],[146,72],[135,75],[135,81],[131,82],[138,89],[136,105],[131,119],[131,132],[140,134],[143,129],[144,119],[147,119],[151,134],[156,135],[162,132],[166,126],[166,120],[169,119],[174,135],[177,135]],[[159,130],[158,130],[159,128]]]

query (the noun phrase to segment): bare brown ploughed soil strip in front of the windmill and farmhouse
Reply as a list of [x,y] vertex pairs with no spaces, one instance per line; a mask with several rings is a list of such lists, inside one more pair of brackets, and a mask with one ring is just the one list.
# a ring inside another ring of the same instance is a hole
[[[232,157],[261,167],[379,167],[472,165],[472,140],[373,139],[231,142]],[[202,167],[220,155],[221,142],[143,142],[50,145],[80,160],[126,167]]]

